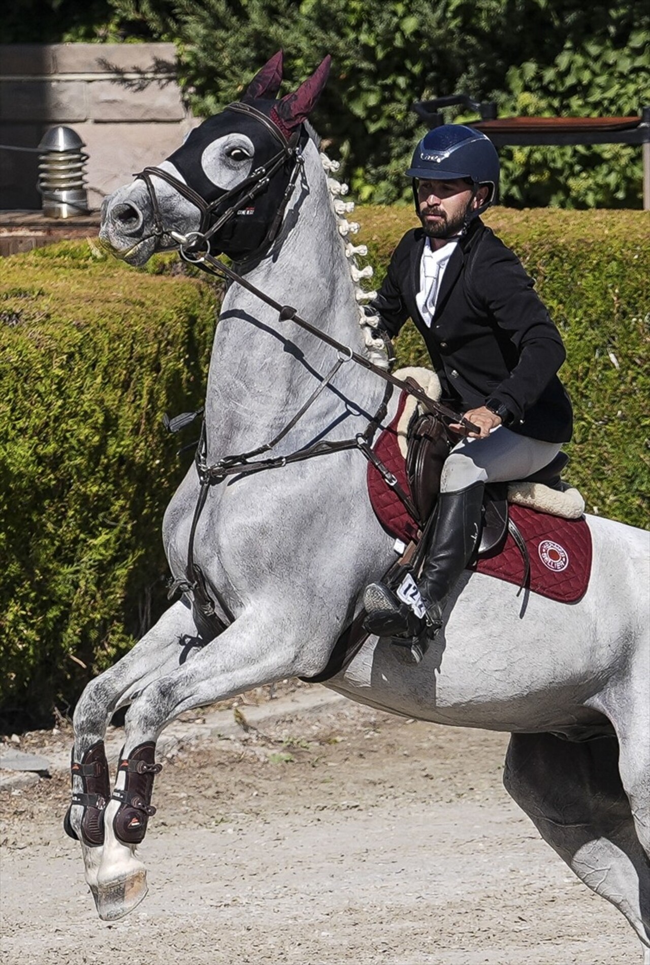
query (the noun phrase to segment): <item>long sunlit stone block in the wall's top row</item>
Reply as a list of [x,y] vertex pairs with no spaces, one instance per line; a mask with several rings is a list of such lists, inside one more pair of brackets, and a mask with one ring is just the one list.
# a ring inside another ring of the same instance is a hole
[[176,71],[173,43],[53,43],[59,73],[170,73]]

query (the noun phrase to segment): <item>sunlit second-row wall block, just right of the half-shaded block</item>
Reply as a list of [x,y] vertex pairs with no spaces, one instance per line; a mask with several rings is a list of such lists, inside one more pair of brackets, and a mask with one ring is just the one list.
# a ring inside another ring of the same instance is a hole
[[182,121],[185,108],[174,80],[95,80],[88,85],[94,121]]

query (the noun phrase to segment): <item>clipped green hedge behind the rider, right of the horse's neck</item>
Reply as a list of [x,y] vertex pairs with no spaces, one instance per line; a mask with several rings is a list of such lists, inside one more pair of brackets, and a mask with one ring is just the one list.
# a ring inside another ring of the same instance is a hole
[[[359,219],[379,285],[415,214],[366,208]],[[576,415],[567,478],[588,512],[648,527],[650,214],[495,208],[485,220],[535,279],[567,348],[561,376]],[[396,347],[400,364],[427,364],[410,323]]]

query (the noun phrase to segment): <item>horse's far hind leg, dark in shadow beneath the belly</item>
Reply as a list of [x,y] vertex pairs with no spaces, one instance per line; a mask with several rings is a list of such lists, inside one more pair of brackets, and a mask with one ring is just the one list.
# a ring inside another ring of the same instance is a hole
[[[627,918],[650,955],[650,859],[618,769],[618,741],[512,734],[503,783],[585,885]],[[650,965],[650,962],[648,962]]]

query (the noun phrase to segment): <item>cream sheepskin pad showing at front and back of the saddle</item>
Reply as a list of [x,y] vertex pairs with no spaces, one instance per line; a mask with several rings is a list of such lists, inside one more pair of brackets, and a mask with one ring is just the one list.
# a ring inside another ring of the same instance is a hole
[[[413,366],[408,369],[398,369],[393,372],[395,378],[413,378],[418,382],[429,399],[438,401],[441,397],[441,387],[438,376],[430,369]],[[409,423],[419,402],[409,396],[397,424],[397,441],[399,452],[406,458],[406,434]],[[543,483],[510,483],[508,485],[508,502],[516,506],[528,506],[530,510],[548,512],[562,519],[580,519],[584,512],[584,500],[578,489],[568,483],[562,483],[562,490],[551,489]]]

